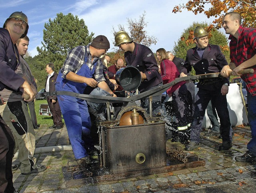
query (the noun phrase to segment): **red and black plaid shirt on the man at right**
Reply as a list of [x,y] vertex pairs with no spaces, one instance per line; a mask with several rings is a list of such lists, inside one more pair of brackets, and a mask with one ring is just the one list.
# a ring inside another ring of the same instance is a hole
[[[238,28],[238,39],[230,35],[230,60],[234,62],[236,66],[239,66],[246,60],[249,60],[256,54],[256,29],[244,28],[240,26]],[[246,82],[246,90],[250,92],[252,96],[256,95],[256,65],[250,68],[254,69],[253,74],[244,74],[241,78]]]

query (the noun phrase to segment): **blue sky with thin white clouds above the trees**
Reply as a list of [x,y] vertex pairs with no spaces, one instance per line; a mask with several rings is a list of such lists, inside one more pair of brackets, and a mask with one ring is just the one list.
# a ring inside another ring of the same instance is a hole
[[[129,2],[129,3],[128,3]],[[174,42],[178,42],[184,29],[193,22],[212,22],[204,14],[194,15],[182,10],[182,13],[172,13],[173,7],[186,3],[187,0],[0,0],[0,26],[15,11],[22,11],[28,16],[28,37],[30,44],[28,52],[31,56],[38,54],[36,47],[42,46],[44,24],[53,20],[57,13],[72,13],[83,19],[89,33],[94,37],[105,35],[114,48],[113,27],[118,30],[118,24],[127,27],[127,18],[139,20],[146,11],[146,30],[148,35],[158,39],[156,45],[150,48],[155,53],[158,48],[172,50]],[[126,30],[128,30],[126,28]]]

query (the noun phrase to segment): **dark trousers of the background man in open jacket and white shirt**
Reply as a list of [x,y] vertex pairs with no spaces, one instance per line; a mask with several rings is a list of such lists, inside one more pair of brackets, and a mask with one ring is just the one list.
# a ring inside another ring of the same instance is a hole
[[49,99],[49,97],[46,97],[46,100],[52,113],[53,124],[56,126],[62,125],[61,111],[58,100],[56,99],[56,103],[53,103],[52,99]]

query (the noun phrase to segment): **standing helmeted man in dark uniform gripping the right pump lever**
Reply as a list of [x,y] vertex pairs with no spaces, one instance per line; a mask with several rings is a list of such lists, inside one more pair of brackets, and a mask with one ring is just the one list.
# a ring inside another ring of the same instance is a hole
[[[194,42],[196,47],[187,51],[186,61],[180,71],[180,77],[187,76],[187,73],[192,70],[192,66],[198,75],[220,72],[223,66],[228,64],[220,50],[220,46],[209,44],[208,35],[208,32],[201,26],[195,28]],[[219,151],[232,147],[232,136],[230,137],[231,123],[226,98],[228,86],[228,78],[207,78],[199,81],[197,84],[199,90],[196,94],[195,110],[190,131],[190,143],[185,147],[185,150],[193,150],[199,145],[205,110],[211,99],[220,117],[222,144],[219,147]]]

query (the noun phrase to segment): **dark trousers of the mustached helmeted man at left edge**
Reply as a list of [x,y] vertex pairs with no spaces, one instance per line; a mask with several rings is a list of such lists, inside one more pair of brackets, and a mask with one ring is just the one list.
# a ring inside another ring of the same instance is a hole
[[14,192],[12,182],[12,156],[15,147],[10,128],[0,116],[0,192]]

